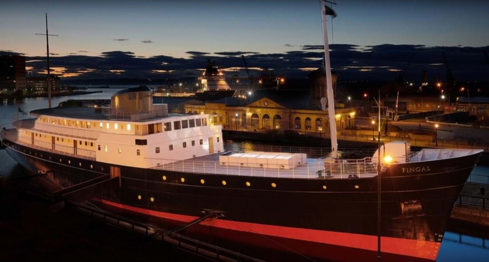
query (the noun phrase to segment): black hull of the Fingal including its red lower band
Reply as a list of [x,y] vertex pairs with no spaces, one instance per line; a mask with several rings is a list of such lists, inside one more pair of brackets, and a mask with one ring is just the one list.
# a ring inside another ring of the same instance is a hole
[[[23,166],[36,172],[48,170],[47,175],[63,187],[110,174],[111,165],[105,163],[9,141],[6,145]],[[436,258],[452,207],[479,156],[393,165],[382,174],[382,236],[387,256],[395,256],[395,261]],[[188,233],[255,248],[266,243],[252,236],[267,235],[280,243],[270,248],[284,252],[284,246],[293,250],[300,246],[301,253],[315,259],[354,261],[346,254],[355,253],[375,260],[375,177],[289,179],[120,168],[121,187],[97,200],[118,213],[172,229],[202,216],[203,209],[222,211],[224,218],[192,227]],[[311,249],[318,246],[331,252]]]

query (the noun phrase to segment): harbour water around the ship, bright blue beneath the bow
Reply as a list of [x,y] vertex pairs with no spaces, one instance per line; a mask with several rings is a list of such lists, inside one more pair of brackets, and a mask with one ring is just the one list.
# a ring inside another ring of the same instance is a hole
[[[57,106],[58,103],[67,99],[110,99],[112,94],[121,90],[117,88],[96,89],[91,88],[89,91],[102,91],[102,93],[94,93],[88,95],[61,96],[53,97],[52,105]],[[12,120],[12,115],[18,113],[18,107],[25,112],[35,109],[47,108],[47,98],[24,98],[24,99],[5,99],[0,105],[0,124],[9,123]],[[0,150],[0,177],[8,177],[13,174],[25,172],[20,165],[17,164],[5,150]],[[472,181],[487,181],[489,175],[489,167],[477,166],[474,168],[471,177]],[[489,237],[484,239],[471,237],[470,235],[458,234],[456,232],[445,232],[442,246],[438,254],[438,262],[459,262],[459,261],[487,261],[489,257]]]

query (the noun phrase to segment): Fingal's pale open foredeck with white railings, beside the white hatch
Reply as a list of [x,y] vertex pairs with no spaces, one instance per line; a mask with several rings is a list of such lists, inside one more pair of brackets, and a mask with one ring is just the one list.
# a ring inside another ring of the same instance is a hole
[[200,156],[192,160],[156,165],[155,169],[200,174],[219,174],[237,176],[261,176],[280,178],[357,178],[377,175],[377,167],[369,160],[344,160],[335,163],[324,163],[324,159],[307,159],[306,164],[290,169],[244,166],[239,163],[223,165],[219,162],[220,154]]

